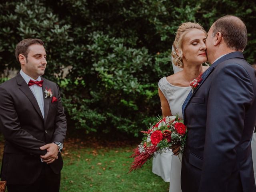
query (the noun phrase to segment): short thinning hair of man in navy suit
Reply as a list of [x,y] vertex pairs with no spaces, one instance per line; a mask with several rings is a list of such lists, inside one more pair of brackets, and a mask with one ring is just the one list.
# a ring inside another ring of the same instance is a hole
[[244,22],[236,16],[226,15],[213,24],[212,37],[221,32],[228,48],[243,51],[247,44],[247,30]]

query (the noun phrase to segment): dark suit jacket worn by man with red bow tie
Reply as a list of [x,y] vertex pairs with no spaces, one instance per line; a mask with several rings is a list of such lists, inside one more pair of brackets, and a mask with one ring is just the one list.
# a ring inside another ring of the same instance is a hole
[[[63,143],[66,136],[60,90],[56,83],[42,80],[42,90],[51,88],[58,99],[56,102],[50,97],[44,99],[44,118],[20,73],[0,85],[0,131],[5,139],[1,176],[8,184],[33,183],[42,170],[40,155],[46,154],[40,146],[54,141]],[[60,153],[50,166],[55,174],[60,174],[63,166]]]

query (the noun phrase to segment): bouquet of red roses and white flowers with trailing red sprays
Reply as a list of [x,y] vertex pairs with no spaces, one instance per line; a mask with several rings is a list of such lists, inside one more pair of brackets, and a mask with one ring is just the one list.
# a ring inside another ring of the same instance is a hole
[[[148,131],[141,131],[144,134],[142,142],[130,156],[134,158],[129,172],[141,168],[149,159],[157,154],[166,152],[174,144],[184,147],[186,140],[187,127],[178,116],[167,116],[160,120],[156,125],[150,125]],[[181,157],[179,156],[181,159]]]

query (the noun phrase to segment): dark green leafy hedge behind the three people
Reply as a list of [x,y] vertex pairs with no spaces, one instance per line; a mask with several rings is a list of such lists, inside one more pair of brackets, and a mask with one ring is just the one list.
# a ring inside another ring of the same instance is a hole
[[[40,38],[46,78],[58,82],[70,128],[138,136],[161,114],[157,82],[172,74],[170,49],[181,22],[206,30],[225,14],[248,29],[244,54],[256,58],[255,0],[8,0],[0,4],[0,70],[19,68],[16,44]],[[65,78],[54,74],[72,66]]]

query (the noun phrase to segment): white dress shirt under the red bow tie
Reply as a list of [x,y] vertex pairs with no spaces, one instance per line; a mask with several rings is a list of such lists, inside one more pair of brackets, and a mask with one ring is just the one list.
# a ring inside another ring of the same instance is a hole
[[[34,81],[34,79],[30,76],[28,76],[27,74],[25,74],[22,70],[20,70],[20,75],[22,76],[22,78],[25,80],[26,84],[28,84],[28,82],[31,80]],[[40,81],[41,77],[39,76],[36,81]],[[34,97],[36,98],[36,101],[38,103],[38,106],[40,108],[40,111],[42,113],[42,116],[44,118],[44,95],[43,95],[43,90],[42,87],[34,84],[29,86],[30,90],[32,91]]]

